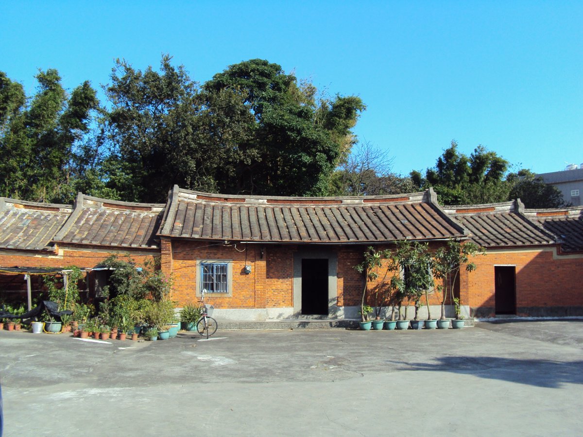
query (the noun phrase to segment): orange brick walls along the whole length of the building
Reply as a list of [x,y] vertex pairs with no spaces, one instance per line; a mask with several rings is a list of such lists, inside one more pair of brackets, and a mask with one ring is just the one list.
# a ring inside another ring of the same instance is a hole
[[[129,253],[137,265],[161,255],[161,269],[173,277],[173,299],[178,306],[195,302],[197,260],[227,260],[231,263],[232,292],[213,294],[217,309],[278,309],[297,306],[294,302],[294,253],[305,246],[269,244],[223,244],[162,238],[160,252],[100,251],[95,248],[61,248],[57,253],[1,251],[0,266],[92,268],[108,256]],[[338,307],[359,306],[363,276],[353,266],[362,260],[365,246],[326,248],[336,259],[336,302]],[[496,308],[495,266],[515,267],[517,315],[545,315],[540,309],[559,311],[549,315],[578,315],[583,312],[583,255],[557,255],[552,247],[490,250],[473,259],[475,272],[460,272],[457,295],[470,314],[493,316]],[[245,273],[251,266],[251,273]],[[297,267],[297,266],[296,266]],[[297,274],[297,271],[296,271]],[[382,276],[382,275],[381,275]],[[26,290],[22,274],[2,274],[3,291]],[[369,284],[374,287],[375,283]],[[89,289],[91,284],[87,284]],[[34,288],[34,286],[33,286]],[[430,305],[440,305],[441,295],[429,296]],[[370,304],[373,300],[369,299]],[[448,302],[449,303],[449,302]],[[295,305],[294,305],[295,304]],[[562,312],[561,312],[562,311]]]

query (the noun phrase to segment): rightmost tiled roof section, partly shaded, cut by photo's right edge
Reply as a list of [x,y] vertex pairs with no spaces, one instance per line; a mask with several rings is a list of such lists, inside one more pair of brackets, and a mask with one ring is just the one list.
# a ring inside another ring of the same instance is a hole
[[526,209],[525,216],[555,236],[563,252],[583,252],[583,208]]

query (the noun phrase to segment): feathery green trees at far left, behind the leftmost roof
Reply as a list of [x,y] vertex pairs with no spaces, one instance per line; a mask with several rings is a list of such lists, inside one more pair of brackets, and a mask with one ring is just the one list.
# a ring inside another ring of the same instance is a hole
[[63,202],[71,198],[71,164],[99,102],[89,82],[71,94],[57,70],[39,71],[36,94],[0,72],[0,195]]

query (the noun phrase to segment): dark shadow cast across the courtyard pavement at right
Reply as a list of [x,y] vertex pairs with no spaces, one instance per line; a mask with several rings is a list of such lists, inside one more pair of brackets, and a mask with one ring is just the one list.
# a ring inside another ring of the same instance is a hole
[[583,361],[519,360],[499,357],[441,357],[437,364],[390,361],[399,370],[453,372],[550,389],[583,383]]

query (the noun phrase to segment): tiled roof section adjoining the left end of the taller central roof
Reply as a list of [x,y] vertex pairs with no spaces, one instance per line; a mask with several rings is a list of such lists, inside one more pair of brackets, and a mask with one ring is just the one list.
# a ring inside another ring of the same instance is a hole
[[55,241],[61,244],[157,248],[164,204],[99,199],[79,193]]

